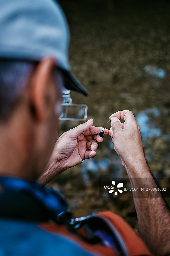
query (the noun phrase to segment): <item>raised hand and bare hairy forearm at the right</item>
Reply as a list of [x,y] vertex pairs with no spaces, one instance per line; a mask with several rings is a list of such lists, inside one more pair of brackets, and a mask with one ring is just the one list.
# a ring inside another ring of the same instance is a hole
[[[170,211],[158,191],[149,167],[145,161],[139,126],[129,110],[118,111],[110,116],[112,128],[109,131],[117,154],[122,159],[132,187],[155,188],[151,191],[133,191],[137,212],[139,235],[155,256],[170,252]],[[122,124],[120,119],[124,119]],[[133,179],[134,177],[138,179]],[[140,179],[146,178],[146,179]],[[149,178],[149,179],[147,179]]]

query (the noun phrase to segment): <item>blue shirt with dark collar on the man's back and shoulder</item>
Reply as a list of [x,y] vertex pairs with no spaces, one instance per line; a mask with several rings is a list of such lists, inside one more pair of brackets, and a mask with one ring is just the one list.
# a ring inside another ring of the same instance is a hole
[[95,250],[96,245],[89,246],[57,224],[57,216],[67,212],[67,203],[37,182],[0,177],[0,205],[0,256],[115,255],[108,254],[107,248],[106,254]]

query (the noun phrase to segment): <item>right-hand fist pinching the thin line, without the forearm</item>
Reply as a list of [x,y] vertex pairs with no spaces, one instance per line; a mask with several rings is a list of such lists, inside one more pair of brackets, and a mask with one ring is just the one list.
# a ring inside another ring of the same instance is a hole
[[[131,169],[136,164],[146,164],[139,125],[133,113],[129,110],[118,111],[112,114],[110,119],[112,127],[109,135],[123,166]],[[120,119],[124,119],[124,124]]]

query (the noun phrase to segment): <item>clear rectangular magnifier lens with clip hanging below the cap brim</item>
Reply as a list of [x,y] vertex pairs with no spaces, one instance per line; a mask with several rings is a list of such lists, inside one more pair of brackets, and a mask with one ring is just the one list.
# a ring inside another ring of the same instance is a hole
[[61,104],[62,114],[59,120],[68,121],[85,121],[87,118],[87,105],[86,104],[73,104],[70,97],[70,90],[63,89],[63,103]]

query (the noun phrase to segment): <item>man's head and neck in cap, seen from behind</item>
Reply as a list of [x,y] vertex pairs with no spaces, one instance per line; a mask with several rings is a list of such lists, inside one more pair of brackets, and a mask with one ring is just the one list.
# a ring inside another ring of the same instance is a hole
[[70,72],[68,26],[55,1],[0,6],[0,170],[36,179],[54,146],[62,86],[87,92]]

